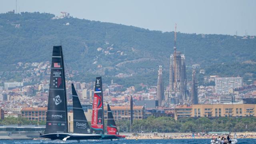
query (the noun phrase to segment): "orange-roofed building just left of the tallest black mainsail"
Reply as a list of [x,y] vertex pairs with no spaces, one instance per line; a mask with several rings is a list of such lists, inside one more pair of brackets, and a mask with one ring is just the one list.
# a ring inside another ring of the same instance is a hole
[[46,120],[47,107],[45,108],[22,108],[21,116],[27,120]]

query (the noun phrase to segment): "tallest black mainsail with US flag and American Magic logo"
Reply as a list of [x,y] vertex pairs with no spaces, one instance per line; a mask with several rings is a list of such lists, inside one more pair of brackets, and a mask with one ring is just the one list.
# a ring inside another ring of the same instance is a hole
[[67,132],[68,114],[62,46],[53,46],[45,134]]

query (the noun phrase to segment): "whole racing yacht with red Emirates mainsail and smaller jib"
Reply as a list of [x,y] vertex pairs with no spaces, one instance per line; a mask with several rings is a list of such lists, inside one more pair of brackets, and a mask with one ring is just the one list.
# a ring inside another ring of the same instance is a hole
[[108,105],[108,125],[107,134],[104,134],[104,108],[102,94],[102,78],[97,77],[94,88],[94,98],[92,103],[92,133],[101,134],[102,140],[123,139],[125,136],[120,136],[116,128],[112,112]]

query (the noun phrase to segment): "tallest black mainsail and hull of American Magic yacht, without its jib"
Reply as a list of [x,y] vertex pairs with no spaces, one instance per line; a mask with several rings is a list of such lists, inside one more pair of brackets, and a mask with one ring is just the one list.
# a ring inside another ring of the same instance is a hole
[[[87,131],[88,132],[88,131]],[[87,140],[101,138],[98,134],[69,133],[66,81],[62,46],[53,46],[46,129],[41,138],[51,140]]]

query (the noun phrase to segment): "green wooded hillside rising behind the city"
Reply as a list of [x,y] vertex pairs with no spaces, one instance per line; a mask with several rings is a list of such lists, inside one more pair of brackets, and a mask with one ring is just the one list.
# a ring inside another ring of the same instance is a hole
[[[132,76],[114,80],[126,85],[155,85],[161,64],[166,86],[174,32],[78,18],[52,20],[52,17],[53,14],[38,12],[0,14],[0,71],[13,70],[10,64],[17,62],[51,61],[52,46],[61,42],[68,66],[79,72],[75,80],[93,81],[94,76],[102,75],[110,82],[118,73],[124,73]],[[212,66],[256,61],[256,38],[241,38],[216,34],[202,38],[201,34],[178,32],[177,50],[186,56],[188,79],[192,64],[210,68],[206,74],[214,74]],[[98,65],[102,68],[97,68]],[[227,75],[234,73],[230,71]]]

